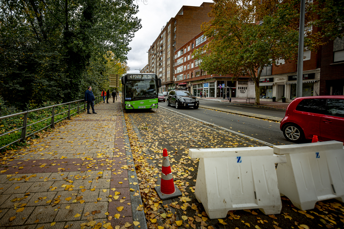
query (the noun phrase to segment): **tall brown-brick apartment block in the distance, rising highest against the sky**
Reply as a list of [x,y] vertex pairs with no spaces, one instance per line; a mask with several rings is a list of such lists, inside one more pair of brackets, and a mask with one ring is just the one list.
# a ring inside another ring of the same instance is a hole
[[155,73],[162,81],[159,92],[174,88],[174,52],[201,32],[201,24],[208,22],[208,13],[213,3],[203,2],[201,6],[186,6],[171,18],[148,50],[148,71]]

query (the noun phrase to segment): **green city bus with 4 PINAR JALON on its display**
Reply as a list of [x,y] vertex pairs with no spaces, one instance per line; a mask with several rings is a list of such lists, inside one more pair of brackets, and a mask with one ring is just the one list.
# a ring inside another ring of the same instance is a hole
[[158,108],[161,79],[156,74],[128,73],[121,82],[124,110]]

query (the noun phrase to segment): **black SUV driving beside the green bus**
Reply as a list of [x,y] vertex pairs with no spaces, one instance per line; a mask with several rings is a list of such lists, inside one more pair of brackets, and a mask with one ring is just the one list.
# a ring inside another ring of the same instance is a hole
[[198,109],[200,101],[186,90],[172,90],[167,95],[167,105],[174,105],[179,109],[180,106],[192,106],[194,109]]

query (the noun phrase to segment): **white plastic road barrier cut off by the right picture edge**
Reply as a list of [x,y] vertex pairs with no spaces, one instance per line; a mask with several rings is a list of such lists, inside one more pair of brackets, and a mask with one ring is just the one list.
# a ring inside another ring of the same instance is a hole
[[273,152],[286,155],[287,163],[277,166],[278,186],[295,207],[313,209],[317,201],[332,198],[343,202],[343,142],[274,146]]

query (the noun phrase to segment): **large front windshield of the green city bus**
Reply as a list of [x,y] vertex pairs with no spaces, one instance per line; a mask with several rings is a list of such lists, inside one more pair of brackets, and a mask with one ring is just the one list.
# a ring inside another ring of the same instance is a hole
[[126,98],[130,100],[139,100],[145,98],[156,98],[157,84],[155,80],[135,80],[126,81]]

